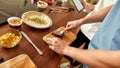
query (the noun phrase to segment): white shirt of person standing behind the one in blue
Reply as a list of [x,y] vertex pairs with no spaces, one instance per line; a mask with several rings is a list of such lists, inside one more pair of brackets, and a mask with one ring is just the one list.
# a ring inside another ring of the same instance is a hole
[[[99,11],[100,9],[109,6],[111,4],[114,4],[116,0],[99,0],[98,4],[95,6],[95,9],[90,12],[87,16],[92,15],[93,13]],[[84,24],[81,26],[81,31],[85,36],[88,37],[88,39],[92,39],[96,31],[98,30],[101,22],[95,22],[91,24]]]

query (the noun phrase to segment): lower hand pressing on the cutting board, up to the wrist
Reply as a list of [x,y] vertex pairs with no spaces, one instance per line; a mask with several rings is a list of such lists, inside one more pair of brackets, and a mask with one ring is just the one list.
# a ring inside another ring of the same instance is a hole
[[68,47],[67,43],[59,38],[48,38],[47,43],[49,48],[58,54],[64,54],[65,48]]

